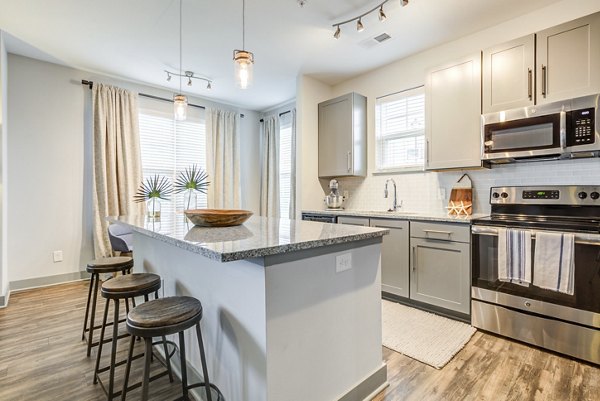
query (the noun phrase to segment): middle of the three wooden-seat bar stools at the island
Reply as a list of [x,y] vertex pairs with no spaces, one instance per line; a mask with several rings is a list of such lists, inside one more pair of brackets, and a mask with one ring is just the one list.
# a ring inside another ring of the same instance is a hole
[[[117,355],[117,342],[120,338],[129,336],[129,334],[124,333],[119,335],[119,305],[120,301],[124,300],[127,309],[129,310],[129,299],[133,299],[134,297],[143,296],[144,300],[148,302],[148,295],[154,293],[155,299],[158,298],[158,290],[160,289],[161,282],[160,276],[152,273],[132,273],[124,276],[115,277],[111,280],[107,280],[102,284],[102,288],[100,293],[103,298],[106,298],[106,304],[104,307],[104,317],[102,318],[102,326],[100,332],[100,341],[98,345],[98,353],[96,355],[96,367],[94,369],[94,384],[100,381],[100,385],[102,389],[106,392],[108,396],[108,400],[112,400],[113,397],[119,396],[121,392],[114,392],[114,382],[115,382],[115,368],[119,365],[124,364],[126,361],[116,362]],[[106,329],[106,321],[108,318],[108,308],[110,305],[110,301],[113,301],[113,334],[112,334],[112,349],[110,354],[110,363],[108,366],[100,368],[100,358],[102,357],[102,345],[107,342],[104,341],[104,332]],[[117,322],[117,323],[115,323]],[[163,336],[163,346],[165,350],[166,356],[166,364],[167,371],[163,372],[160,376],[162,377],[165,374],[169,375],[171,382],[173,381],[173,374],[171,372],[171,364],[169,359],[169,354],[167,350],[166,338]],[[141,357],[142,354],[138,355]],[[135,359],[135,358],[134,358]],[[104,386],[102,381],[100,380],[100,373],[109,371],[109,382],[108,389]]]

